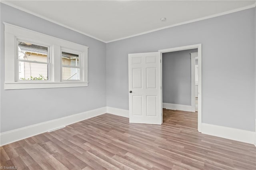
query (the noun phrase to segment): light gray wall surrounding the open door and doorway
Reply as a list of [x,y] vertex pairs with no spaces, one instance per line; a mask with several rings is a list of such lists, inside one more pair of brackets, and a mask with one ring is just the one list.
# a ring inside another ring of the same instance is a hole
[[202,43],[202,122],[255,131],[254,10],[107,43],[107,106],[128,110],[128,53]]

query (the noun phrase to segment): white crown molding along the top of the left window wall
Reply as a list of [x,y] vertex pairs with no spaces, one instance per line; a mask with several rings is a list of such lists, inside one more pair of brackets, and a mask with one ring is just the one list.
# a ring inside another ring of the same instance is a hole
[[16,6],[16,5],[14,5],[14,4],[11,4],[10,2],[8,2],[8,1],[6,1],[6,0],[4,0],[4,1],[2,0],[1,3],[6,4],[6,5],[8,5],[8,6],[11,6],[11,7],[13,7],[13,8],[16,8],[16,9],[18,9],[18,10],[22,10],[22,11],[24,11],[24,12],[27,12],[27,13],[29,13],[29,14],[32,14],[32,15],[37,16],[37,17],[39,17],[39,18],[42,18],[42,19],[44,19],[44,20],[50,21],[50,22],[52,22],[52,23],[54,23],[54,24],[58,24],[59,26],[68,28],[68,29],[70,29],[70,30],[72,30],[72,31],[75,31],[75,32],[78,32],[78,33],[80,33],[80,34],[84,34],[85,36],[88,36],[88,37],[93,38],[93,39],[95,39],[95,40],[98,40],[98,41],[101,41],[101,42],[106,43],[106,41],[101,40],[100,38],[94,37],[94,36],[92,36],[92,35],[90,35],[90,34],[86,34],[86,33],[82,32],[82,31],[79,31],[79,30],[77,30],[77,29],[75,29],[75,28],[72,28],[72,27],[70,27],[70,26],[66,26],[65,24],[61,24],[60,22],[56,22],[56,21],[54,21],[54,20],[52,20],[52,19],[50,19],[50,18],[47,18],[47,17],[44,17],[44,16],[42,16],[42,15],[36,14],[36,13],[30,11],[30,10],[26,10],[25,8],[22,8],[22,7],[20,7],[20,6]]

